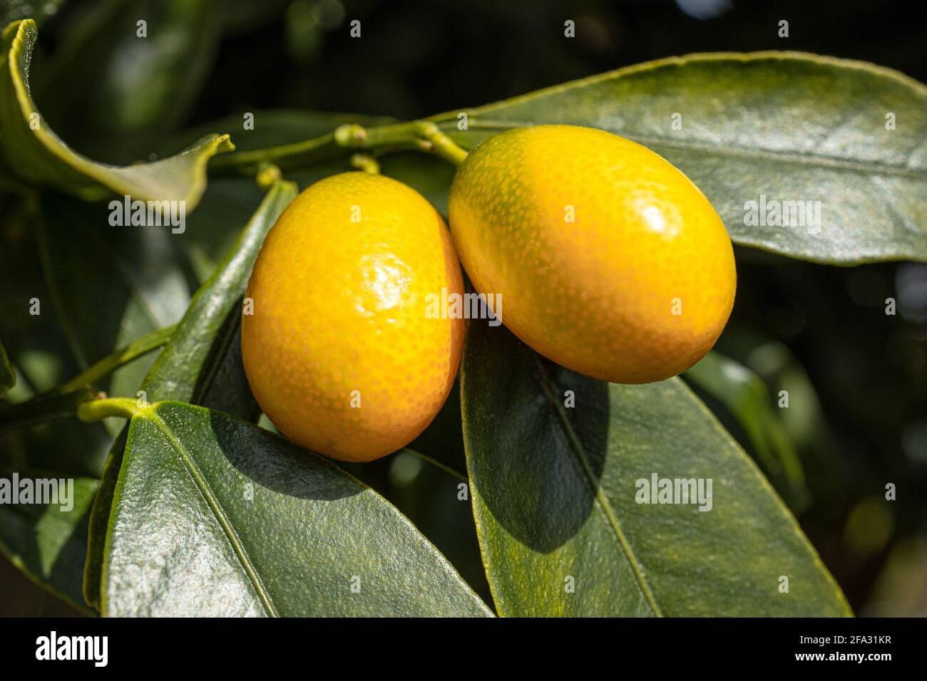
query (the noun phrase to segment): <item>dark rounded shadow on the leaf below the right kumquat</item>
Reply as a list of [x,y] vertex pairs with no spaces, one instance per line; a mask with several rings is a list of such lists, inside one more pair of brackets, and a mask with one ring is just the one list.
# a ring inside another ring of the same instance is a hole
[[474,494],[522,544],[544,553],[559,548],[595,502],[607,446],[608,385],[482,322],[469,324],[463,375]]

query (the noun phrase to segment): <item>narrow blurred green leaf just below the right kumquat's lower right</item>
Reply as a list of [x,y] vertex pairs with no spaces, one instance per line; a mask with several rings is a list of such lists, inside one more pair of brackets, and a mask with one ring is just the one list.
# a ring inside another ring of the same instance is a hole
[[792,437],[773,409],[767,385],[740,362],[709,352],[683,376],[720,401],[743,427],[760,466],[794,511],[808,501],[805,472]]

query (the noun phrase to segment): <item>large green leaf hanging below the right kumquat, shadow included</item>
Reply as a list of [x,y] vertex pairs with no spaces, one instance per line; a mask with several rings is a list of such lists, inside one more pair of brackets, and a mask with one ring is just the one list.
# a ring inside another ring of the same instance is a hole
[[[461,381],[477,534],[500,614],[851,614],[756,465],[678,378],[594,381],[504,327],[471,323]],[[649,488],[654,475],[703,479],[703,490],[711,479],[710,511],[639,504],[638,481]]]

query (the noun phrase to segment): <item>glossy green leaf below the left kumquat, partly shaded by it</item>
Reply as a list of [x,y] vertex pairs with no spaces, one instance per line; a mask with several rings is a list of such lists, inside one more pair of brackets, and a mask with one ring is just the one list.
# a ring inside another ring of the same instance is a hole
[[134,416],[114,501],[104,615],[489,614],[372,489],[218,411]]

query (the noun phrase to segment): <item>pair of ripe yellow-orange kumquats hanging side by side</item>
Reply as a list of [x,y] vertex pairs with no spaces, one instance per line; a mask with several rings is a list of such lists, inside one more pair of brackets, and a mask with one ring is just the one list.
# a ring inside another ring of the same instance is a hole
[[261,408],[298,445],[374,460],[432,421],[464,319],[426,303],[464,293],[458,256],[528,346],[606,381],[685,371],[730,315],[733,253],[714,208],[666,160],[608,132],[492,137],[457,171],[449,213],[452,239],[412,188],[348,172],[311,185],[273,226],[248,283],[242,355]]

